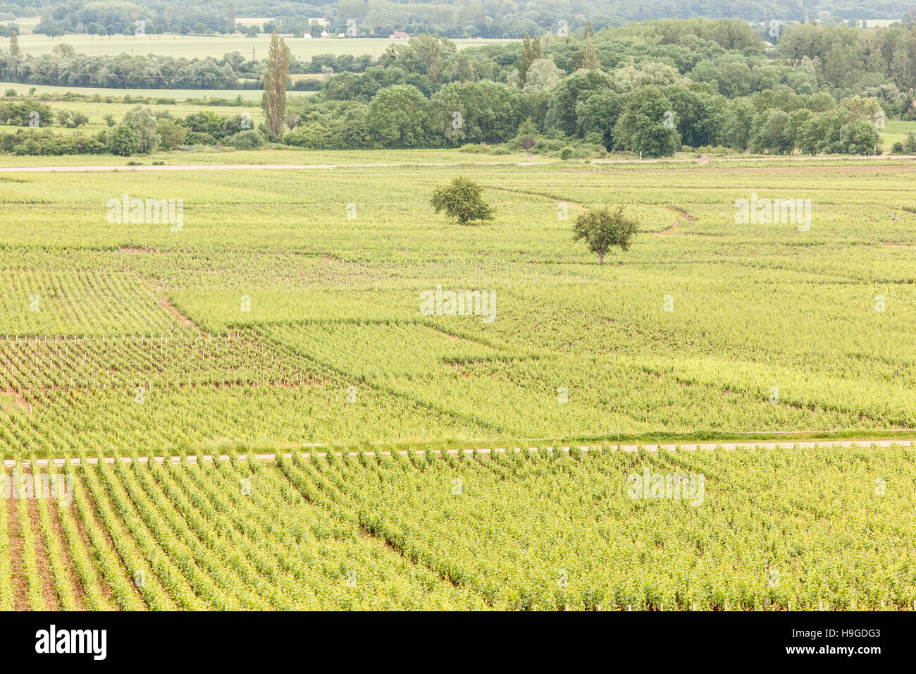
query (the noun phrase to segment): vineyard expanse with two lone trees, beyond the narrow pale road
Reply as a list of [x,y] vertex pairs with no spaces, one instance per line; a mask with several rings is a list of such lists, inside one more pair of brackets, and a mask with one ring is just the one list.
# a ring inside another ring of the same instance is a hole
[[[0,442],[911,428],[912,164],[822,163],[4,174]],[[492,224],[426,204],[469,172]],[[810,198],[810,230],[736,223],[754,193]],[[181,221],[110,221],[125,194]],[[599,267],[571,220],[604,202],[643,233]],[[493,302],[424,314],[439,286]]]

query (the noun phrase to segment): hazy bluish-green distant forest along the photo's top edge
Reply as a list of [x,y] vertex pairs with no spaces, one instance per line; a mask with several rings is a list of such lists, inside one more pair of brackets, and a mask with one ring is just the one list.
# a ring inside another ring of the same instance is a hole
[[555,30],[561,22],[573,32],[586,21],[594,28],[620,26],[627,21],[651,18],[741,18],[751,22],[771,20],[822,23],[850,19],[900,19],[911,0],[467,0],[392,2],[391,0],[338,0],[337,2],[273,2],[271,0],[55,0],[35,4],[29,0],[0,4],[0,20],[40,16],[37,31],[49,36],[66,33],[112,35],[133,33],[136,20],[147,22],[147,32],[212,33],[235,28],[236,17],[269,17],[267,32],[299,35],[320,33],[311,19],[329,22],[344,32],[352,20],[364,36],[387,37],[396,30],[409,34],[435,33],[448,38],[520,38]]

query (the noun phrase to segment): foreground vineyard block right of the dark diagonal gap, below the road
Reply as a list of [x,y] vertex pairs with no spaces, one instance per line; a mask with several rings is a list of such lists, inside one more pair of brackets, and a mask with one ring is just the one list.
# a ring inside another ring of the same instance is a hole
[[[428,453],[279,463],[309,498],[494,604],[912,608],[916,567],[900,545],[912,529],[912,452],[841,451],[834,467],[836,452],[507,452],[470,461]],[[817,479],[823,492],[806,491],[825,465],[829,474]],[[644,470],[703,475],[705,501],[627,496],[630,476]],[[774,470],[788,484],[769,484]],[[896,483],[895,491],[877,495],[869,473]],[[825,510],[827,503],[835,505]]]

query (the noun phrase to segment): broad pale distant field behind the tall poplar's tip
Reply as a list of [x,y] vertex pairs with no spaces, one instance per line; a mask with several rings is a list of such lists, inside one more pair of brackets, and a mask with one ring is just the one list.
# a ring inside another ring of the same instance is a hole
[[[309,60],[317,54],[377,54],[381,56],[388,45],[398,44],[396,39],[388,38],[325,38],[306,39],[284,37],[289,51],[298,59]],[[512,39],[455,39],[458,49],[485,44],[506,44],[518,41]],[[403,42],[403,40],[401,40]],[[19,38],[19,48],[27,54],[47,54],[60,43],[72,45],[77,52],[88,55],[98,54],[169,54],[187,59],[219,58],[230,51],[240,51],[246,58],[251,58],[255,50],[256,58],[266,59],[270,46],[270,36],[262,34],[256,38],[241,36],[182,36],[182,35],[147,35],[107,37],[90,35],[65,35],[63,38],[49,38],[41,34],[27,34]],[[6,50],[9,39],[0,38],[0,50]]]

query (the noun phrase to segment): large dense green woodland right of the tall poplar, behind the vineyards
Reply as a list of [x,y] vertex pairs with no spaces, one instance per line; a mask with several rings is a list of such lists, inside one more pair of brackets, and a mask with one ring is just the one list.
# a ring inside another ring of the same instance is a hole
[[[905,33],[916,43],[916,26],[874,33],[888,43]],[[867,76],[834,82],[816,54],[780,58],[753,27],[734,20],[605,31],[586,24],[566,38],[526,36],[460,51],[448,39],[419,36],[390,47],[365,72],[329,76],[319,94],[293,103],[299,122],[284,142],[519,147],[532,139],[535,151],[539,143],[580,142],[647,157],[707,147],[868,154],[888,119],[914,112],[909,81],[871,63]]]

